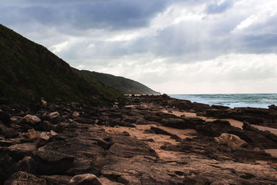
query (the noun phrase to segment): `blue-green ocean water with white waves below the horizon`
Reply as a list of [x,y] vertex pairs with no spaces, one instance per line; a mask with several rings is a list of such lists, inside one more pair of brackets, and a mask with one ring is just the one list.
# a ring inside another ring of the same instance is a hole
[[170,94],[172,98],[208,105],[268,108],[277,105],[277,94]]

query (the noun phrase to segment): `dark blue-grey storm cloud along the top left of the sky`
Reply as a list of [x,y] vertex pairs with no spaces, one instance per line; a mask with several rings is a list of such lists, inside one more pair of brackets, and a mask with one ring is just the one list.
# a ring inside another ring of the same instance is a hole
[[[114,1],[31,1],[1,8],[1,22],[26,19],[49,26],[70,25],[74,29],[129,29],[147,26],[157,12],[166,8],[166,0]],[[9,18],[11,17],[11,18]]]

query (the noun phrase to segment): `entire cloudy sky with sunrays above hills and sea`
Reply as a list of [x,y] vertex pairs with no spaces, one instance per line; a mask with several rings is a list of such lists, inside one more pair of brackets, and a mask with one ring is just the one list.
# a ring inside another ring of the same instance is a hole
[[276,0],[1,0],[0,24],[162,93],[277,93]]

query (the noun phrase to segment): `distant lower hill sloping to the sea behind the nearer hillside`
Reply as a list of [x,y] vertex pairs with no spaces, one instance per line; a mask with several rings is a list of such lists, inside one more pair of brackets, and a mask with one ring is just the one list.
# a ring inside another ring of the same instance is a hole
[[102,82],[109,87],[113,87],[122,94],[160,94],[159,92],[153,91],[140,82],[123,78],[121,76],[113,76],[107,73],[98,73],[87,70],[82,70],[82,73],[98,80],[99,82]]

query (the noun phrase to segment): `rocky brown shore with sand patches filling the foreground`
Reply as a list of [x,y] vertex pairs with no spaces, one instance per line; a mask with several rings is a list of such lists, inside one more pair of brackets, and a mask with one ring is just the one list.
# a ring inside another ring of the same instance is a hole
[[0,184],[277,184],[277,107],[0,105]]

